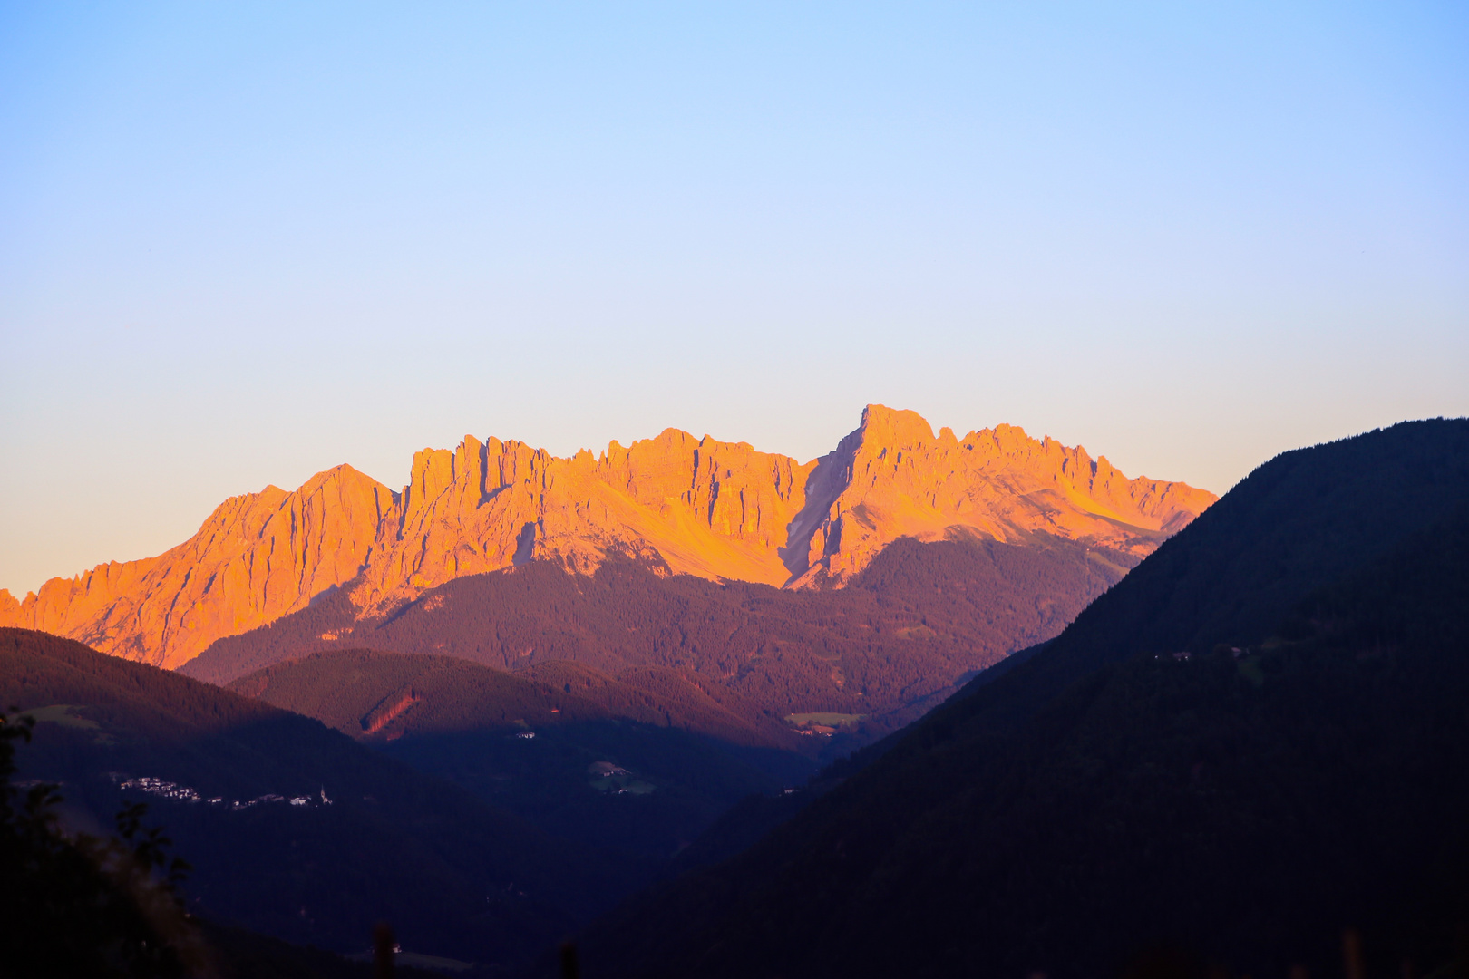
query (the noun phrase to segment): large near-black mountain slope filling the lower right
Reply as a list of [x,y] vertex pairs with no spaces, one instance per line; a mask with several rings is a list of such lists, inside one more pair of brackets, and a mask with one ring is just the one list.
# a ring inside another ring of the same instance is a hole
[[1027,662],[595,925],[586,973],[1069,979],[1159,941],[1329,973],[1344,926],[1378,975],[1437,966],[1469,922],[1466,555],[1469,421],[1278,456]]

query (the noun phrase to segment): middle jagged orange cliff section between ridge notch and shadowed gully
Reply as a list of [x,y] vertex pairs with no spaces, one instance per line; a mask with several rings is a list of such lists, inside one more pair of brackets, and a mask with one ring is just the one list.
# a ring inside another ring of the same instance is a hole
[[397,537],[354,593],[379,609],[461,574],[524,561],[589,572],[607,553],[705,578],[783,584],[777,553],[814,464],[668,429],[593,456],[466,436],[413,458]]

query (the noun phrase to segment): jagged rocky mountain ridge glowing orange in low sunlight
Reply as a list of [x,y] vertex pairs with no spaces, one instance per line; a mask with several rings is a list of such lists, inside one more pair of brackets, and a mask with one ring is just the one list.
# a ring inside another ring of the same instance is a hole
[[175,668],[354,578],[363,616],[461,575],[526,561],[589,572],[608,553],[673,574],[840,587],[905,536],[1022,545],[1044,533],[1141,558],[1213,501],[1011,426],[934,436],[918,414],[881,405],[805,464],[673,429],[570,458],[466,436],[416,454],[401,493],[339,465],[291,493],[226,501],[157,558],[53,578],[24,602],[0,592],[0,625]]

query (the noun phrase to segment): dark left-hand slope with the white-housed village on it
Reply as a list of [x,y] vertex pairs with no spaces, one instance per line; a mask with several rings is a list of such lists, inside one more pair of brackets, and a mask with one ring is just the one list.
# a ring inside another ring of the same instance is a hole
[[[554,840],[320,722],[28,630],[0,630],[0,697],[38,719],[21,776],[104,826],[147,801],[194,863],[191,909],[294,942],[511,961],[639,869]],[[210,801],[217,800],[217,801]]]

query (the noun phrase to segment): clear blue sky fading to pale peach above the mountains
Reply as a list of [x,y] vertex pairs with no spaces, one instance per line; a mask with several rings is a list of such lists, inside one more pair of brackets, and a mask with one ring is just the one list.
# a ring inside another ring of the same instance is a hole
[[0,1],[0,587],[466,433],[1469,414],[1463,3]]

